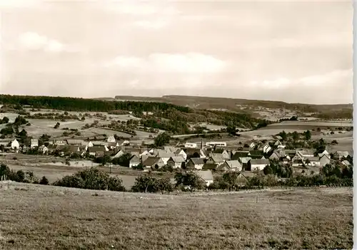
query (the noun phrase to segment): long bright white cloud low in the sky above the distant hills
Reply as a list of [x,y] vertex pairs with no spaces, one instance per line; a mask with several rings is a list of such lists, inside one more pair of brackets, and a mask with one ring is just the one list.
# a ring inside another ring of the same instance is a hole
[[201,53],[152,53],[147,58],[118,56],[106,66],[144,73],[219,73],[227,63]]

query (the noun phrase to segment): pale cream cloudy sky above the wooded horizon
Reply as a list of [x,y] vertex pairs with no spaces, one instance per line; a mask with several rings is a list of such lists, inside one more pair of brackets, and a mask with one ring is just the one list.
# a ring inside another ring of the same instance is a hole
[[352,1],[0,0],[0,93],[353,103]]

